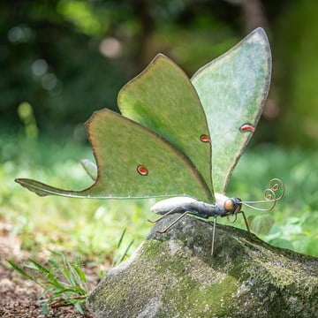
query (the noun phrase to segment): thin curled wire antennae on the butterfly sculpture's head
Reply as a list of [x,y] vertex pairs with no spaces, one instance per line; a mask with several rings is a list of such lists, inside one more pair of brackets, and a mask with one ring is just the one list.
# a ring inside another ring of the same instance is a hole
[[[258,211],[270,211],[276,206],[276,201],[279,201],[284,196],[284,183],[279,178],[273,178],[269,181],[269,188],[264,191],[265,200],[261,201],[242,201],[246,207],[254,208]],[[254,204],[270,203],[268,208],[254,207]]]

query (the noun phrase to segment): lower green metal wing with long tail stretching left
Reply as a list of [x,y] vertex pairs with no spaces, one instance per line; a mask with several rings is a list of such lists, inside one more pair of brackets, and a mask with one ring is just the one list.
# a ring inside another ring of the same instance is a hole
[[186,194],[212,201],[208,187],[186,155],[148,128],[105,109],[93,114],[87,133],[98,170],[93,186],[68,191],[26,178],[16,181],[39,195],[144,198]]

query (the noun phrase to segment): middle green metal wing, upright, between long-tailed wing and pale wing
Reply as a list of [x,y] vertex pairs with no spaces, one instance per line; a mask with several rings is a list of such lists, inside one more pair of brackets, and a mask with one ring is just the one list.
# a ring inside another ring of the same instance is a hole
[[118,95],[123,116],[146,126],[185,154],[200,172],[214,201],[208,123],[186,73],[158,55]]

